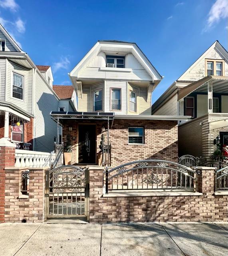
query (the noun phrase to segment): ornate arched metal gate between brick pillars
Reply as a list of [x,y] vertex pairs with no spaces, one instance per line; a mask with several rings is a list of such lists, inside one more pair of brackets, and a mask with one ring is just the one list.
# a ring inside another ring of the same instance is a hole
[[46,219],[89,220],[89,170],[59,166],[46,173]]

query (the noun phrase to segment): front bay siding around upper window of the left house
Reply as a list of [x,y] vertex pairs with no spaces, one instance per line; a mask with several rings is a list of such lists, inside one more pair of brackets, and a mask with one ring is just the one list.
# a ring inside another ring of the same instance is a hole
[[[19,66],[14,62],[7,61],[7,70],[6,70],[6,101],[11,102],[26,112],[28,112],[28,76],[29,71],[27,68]],[[24,77],[24,87],[23,87],[23,100],[13,98],[12,96],[12,78],[13,72],[20,74]]]

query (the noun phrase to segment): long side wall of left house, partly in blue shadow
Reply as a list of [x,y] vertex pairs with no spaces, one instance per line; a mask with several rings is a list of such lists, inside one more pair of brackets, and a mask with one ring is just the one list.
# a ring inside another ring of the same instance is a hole
[[50,112],[58,109],[58,99],[41,75],[36,72],[35,86],[34,147],[36,151],[54,150],[54,137],[57,137],[57,124]]

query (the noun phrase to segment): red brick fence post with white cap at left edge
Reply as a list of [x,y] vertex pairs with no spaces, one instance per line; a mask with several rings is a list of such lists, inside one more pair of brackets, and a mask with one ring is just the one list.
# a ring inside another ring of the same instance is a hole
[[0,223],[4,222],[5,211],[5,186],[6,173],[5,167],[14,166],[15,163],[15,145],[6,138],[0,139]]

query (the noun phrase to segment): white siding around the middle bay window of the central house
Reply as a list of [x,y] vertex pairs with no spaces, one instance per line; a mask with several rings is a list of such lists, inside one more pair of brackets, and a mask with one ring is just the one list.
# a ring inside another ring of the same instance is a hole
[[121,110],[115,111],[117,115],[127,114],[127,82],[126,81],[116,81],[107,80],[105,81],[105,112],[111,112],[111,88],[121,89]]

